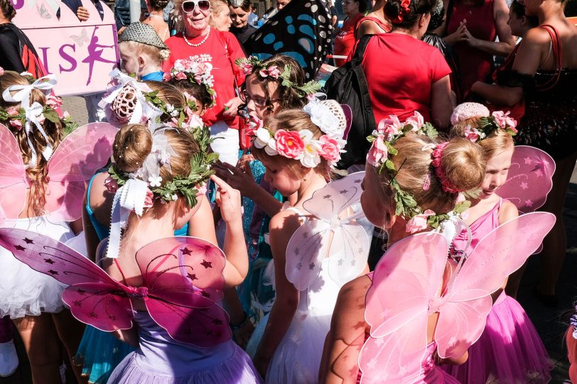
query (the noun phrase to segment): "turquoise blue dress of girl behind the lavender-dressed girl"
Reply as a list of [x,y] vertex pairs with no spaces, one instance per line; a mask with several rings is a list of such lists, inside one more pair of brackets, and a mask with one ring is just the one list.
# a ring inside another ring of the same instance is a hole
[[[88,183],[87,202],[90,202],[90,188],[95,176]],[[109,235],[109,228],[97,221],[90,204],[87,203],[85,209],[99,240],[102,241]],[[187,230],[188,224],[185,224],[183,228],[174,231],[174,235],[186,236]],[[75,363],[82,364],[82,376],[88,378],[88,383],[106,384],[114,368],[132,351],[134,347],[112,336],[112,333],[87,325],[74,360]]]

